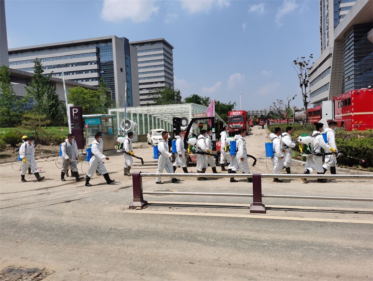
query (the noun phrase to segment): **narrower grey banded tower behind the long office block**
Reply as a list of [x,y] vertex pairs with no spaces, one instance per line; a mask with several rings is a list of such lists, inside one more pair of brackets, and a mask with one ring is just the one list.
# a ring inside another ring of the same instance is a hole
[[154,105],[153,91],[174,90],[174,47],[165,39],[130,42],[137,48],[140,105]]

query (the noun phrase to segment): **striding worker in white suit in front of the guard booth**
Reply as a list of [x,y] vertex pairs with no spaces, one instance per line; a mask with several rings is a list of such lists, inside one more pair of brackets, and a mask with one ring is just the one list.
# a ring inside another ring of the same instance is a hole
[[86,186],[92,186],[90,180],[96,169],[103,175],[107,184],[114,182],[114,179],[110,179],[109,173],[102,162],[103,159],[109,160],[109,157],[101,153],[102,146],[100,145],[100,139],[102,139],[102,135],[96,134],[92,142],[92,157],[90,159],[90,168],[86,174]]

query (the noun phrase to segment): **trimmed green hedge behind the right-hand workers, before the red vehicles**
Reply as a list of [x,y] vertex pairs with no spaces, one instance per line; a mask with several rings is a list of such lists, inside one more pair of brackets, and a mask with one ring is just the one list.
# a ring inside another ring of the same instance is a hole
[[[268,129],[274,133],[275,128],[280,127],[282,132],[286,132],[287,126],[287,124],[271,125]],[[308,126],[306,128],[299,124],[289,126],[294,129],[292,135],[293,140],[298,139],[302,134],[311,135],[312,132],[316,130],[315,126]],[[336,131],[336,144],[339,150],[345,151],[350,156],[341,155],[337,157],[339,165],[350,167],[361,166],[363,168],[373,167],[373,130],[348,132],[343,128],[338,128]],[[299,152],[299,147],[296,145],[293,157],[296,158]],[[305,160],[305,157],[302,157],[302,160]],[[362,160],[364,160],[364,162]]]

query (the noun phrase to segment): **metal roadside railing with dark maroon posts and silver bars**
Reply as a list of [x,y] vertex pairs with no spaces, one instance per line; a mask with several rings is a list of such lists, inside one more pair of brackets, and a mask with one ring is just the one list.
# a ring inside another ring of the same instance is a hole
[[[180,177],[237,177],[237,178],[252,178],[253,179],[253,194],[238,194],[238,193],[206,193],[206,192],[168,192],[168,191],[143,191],[143,177],[162,177],[162,176],[180,176]],[[253,203],[250,205],[250,213],[266,213],[266,206],[262,202],[263,197],[267,198],[293,198],[293,199],[320,199],[320,200],[346,200],[346,201],[369,201],[373,198],[354,198],[354,197],[323,197],[323,196],[293,196],[293,195],[266,195],[262,194],[262,178],[307,178],[307,179],[373,179],[373,175],[325,175],[325,174],[262,174],[255,172],[252,174],[227,174],[227,173],[132,173],[133,183],[133,202],[129,206],[131,209],[143,208],[148,204],[144,200],[143,194],[155,195],[200,195],[200,196],[237,196],[237,197],[253,197]]]

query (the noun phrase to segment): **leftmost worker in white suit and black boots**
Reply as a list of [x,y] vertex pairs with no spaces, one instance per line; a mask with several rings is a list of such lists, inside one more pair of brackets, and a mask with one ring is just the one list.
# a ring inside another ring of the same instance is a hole
[[35,161],[35,147],[34,147],[34,137],[28,137],[24,139],[24,142],[19,148],[19,158],[22,159],[21,163],[21,181],[26,182],[24,178],[28,168],[31,168],[32,173],[35,175],[38,181],[42,181],[45,177],[40,176],[38,172],[38,167],[36,166]]

